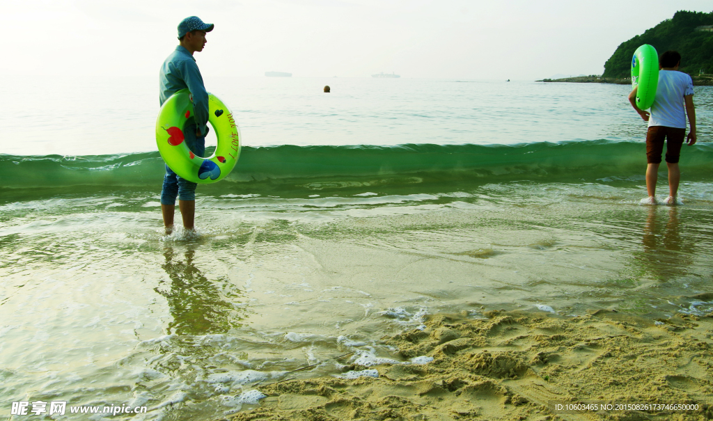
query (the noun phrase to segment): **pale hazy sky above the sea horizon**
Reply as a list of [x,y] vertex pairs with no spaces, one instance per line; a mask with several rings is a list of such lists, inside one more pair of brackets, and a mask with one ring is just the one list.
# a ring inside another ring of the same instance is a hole
[[198,16],[208,76],[535,80],[601,74],[617,46],[710,0],[0,0],[7,76],[158,76]]

